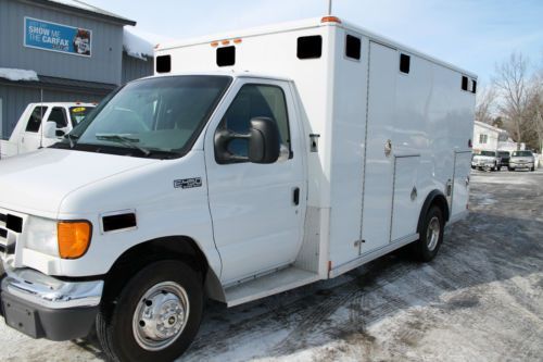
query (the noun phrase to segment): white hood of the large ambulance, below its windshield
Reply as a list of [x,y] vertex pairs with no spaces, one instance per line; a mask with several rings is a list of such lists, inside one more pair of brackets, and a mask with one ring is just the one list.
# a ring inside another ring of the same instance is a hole
[[0,207],[56,217],[66,195],[157,160],[84,151],[42,149],[0,161]]

